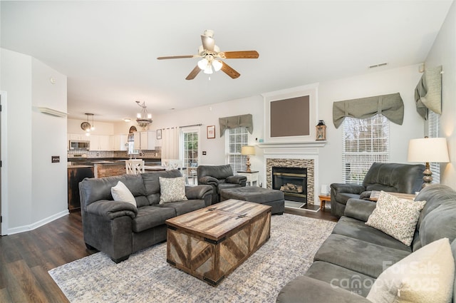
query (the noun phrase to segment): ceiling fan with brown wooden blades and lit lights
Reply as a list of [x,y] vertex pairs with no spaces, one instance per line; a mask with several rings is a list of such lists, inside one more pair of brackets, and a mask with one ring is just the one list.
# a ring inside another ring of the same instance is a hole
[[198,48],[197,55],[187,56],[166,56],[158,57],[158,60],[163,59],[181,59],[181,58],[202,58],[198,61],[197,66],[188,74],[186,80],[194,79],[200,71],[211,74],[214,71],[222,70],[231,78],[235,79],[241,76],[240,73],[235,71],[231,66],[219,59],[256,59],[259,57],[257,51],[224,51],[221,52],[219,46],[215,45],[214,31],[207,29],[201,35],[202,46]]

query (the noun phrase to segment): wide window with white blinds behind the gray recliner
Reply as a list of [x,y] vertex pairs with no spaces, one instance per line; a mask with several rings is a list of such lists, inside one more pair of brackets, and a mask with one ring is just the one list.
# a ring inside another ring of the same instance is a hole
[[390,123],[384,115],[346,117],[342,128],[343,182],[363,183],[372,163],[390,159]]

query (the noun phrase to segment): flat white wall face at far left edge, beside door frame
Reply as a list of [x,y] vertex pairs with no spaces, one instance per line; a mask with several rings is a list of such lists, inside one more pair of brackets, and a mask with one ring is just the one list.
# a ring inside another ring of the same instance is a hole
[[[31,222],[31,57],[0,49],[1,53],[1,91],[8,93],[7,135],[8,142],[2,138],[1,144],[7,145],[8,158],[2,158],[3,168],[7,171],[8,213],[6,228],[19,227]],[[2,113],[4,115],[4,113]],[[14,118],[16,117],[16,118]],[[20,117],[20,118],[18,118]],[[3,157],[3,155],[2,155]],[[2,207],[5,208],[5,207]],[[8,230],[2,229],[6,234]]]

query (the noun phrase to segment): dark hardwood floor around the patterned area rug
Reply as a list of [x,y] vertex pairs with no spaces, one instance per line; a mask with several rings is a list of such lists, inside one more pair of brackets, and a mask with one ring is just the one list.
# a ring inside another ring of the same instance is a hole
[[[329,210],[286,212],[336,221]],[[48,270],[95,253],[83,242],[81,212],[30,232],[0,237],[0,302],[68,302]]]

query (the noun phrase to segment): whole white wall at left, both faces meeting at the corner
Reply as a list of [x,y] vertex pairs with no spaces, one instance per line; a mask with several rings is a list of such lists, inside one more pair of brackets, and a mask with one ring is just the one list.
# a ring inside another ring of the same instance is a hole
[[[8,94],[6,116],[7,220],[4,234],[31,230],[68,213],[66,118],[38,112],[45,106],[66,112],[66,76],[30,56],[1,48],[1,91]],[[53,76],[56,84],[51,85]],[[63,162],[51,163],[51,155]],[[2,155],[4,157],[4,155]]]

